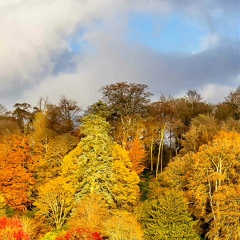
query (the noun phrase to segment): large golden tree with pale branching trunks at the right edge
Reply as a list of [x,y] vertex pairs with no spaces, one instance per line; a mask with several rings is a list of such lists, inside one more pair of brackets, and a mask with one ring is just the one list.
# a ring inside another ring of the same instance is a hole
[[220,132],[193,155],[187,185],[195,215],[210,224],[210,239],[239,239],[240,134]]

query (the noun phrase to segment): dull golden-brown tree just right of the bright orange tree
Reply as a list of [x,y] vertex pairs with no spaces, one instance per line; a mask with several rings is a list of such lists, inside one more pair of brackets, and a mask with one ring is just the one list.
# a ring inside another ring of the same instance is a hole
[[31,142],[34,154],[38,158],[35,171],[38,185],[61,174],[64,156],[77,144],[76,137],[69,133],[57,135],[49,128],[49,124],[46,113],[36,114]]

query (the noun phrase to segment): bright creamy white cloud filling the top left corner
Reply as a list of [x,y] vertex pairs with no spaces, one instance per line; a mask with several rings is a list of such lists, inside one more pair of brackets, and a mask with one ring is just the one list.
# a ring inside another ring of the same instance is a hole
[[[52,56],[68,48],[67,36],[104,16],[109,0],[22,0],[0,5],[1,87],[49,74]],[[105,9],[106,7],[106,9]]]

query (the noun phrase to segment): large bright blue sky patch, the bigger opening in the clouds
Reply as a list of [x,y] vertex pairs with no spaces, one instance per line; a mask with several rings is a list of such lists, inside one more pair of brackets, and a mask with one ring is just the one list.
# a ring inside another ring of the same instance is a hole
[[197,21],[178,13],[168,16],[132,13],[126,40],[165,53],[192,53],[200,50],[201,37],[208,31]]

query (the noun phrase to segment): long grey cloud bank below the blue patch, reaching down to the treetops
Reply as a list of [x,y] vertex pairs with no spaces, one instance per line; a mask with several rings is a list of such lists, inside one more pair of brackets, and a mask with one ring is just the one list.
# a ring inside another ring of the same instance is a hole
[[162,93],[178,96],[196,89],[206,94],[203,95],[206,100],[217,102],[224,99],[231,86],[236,86],[240,75],[240,51],[230,43],[196,54],[179,55],[128,45],[117,36],[103,33],[95,33],[89,41],[95,46],[95,52],[87,53],[74,73],[43,79],[31,91],[25,91],[24,99],[36,102],[36,96],[51,96],[50,100],[56,102],[65,94],[87,107],[101,97],[98,91],[101,86],[127,81],[148,84],[155,99]]

